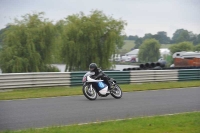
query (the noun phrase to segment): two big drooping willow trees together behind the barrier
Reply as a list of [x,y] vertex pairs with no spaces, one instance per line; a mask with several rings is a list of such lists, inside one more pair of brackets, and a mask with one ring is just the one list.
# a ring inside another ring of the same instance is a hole
[[123,45],[125,25],[98,10],[56,23],[43,12],[26,14],[0,32],[0,68],[3,73],[55,72],[59,70],[51,64],[59,62],[66,64],[66,71],[81,71],[95,62],[108,69],[109,58]]

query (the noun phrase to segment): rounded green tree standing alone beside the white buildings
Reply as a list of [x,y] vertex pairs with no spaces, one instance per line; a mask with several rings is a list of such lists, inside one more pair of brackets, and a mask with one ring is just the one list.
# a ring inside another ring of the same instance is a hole
[[156,39],[145,40],[139,49],[140,62],[155,62],[160,58],[160,44]]

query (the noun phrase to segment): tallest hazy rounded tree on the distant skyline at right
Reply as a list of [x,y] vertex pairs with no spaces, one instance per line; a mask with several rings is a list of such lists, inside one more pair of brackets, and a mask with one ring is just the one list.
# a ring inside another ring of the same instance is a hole
[[180,43],[184,41],[189,41],[190,35],[187,30],[178,29],[175,31],[172,37],[172,43]]

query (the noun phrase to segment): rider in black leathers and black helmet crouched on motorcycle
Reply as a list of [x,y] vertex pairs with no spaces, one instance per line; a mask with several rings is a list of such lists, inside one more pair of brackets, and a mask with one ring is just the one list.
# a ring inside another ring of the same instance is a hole
[[101,78],[102,80],[104,80],[104,82],[108,85],[108,88],[110,89],[110,83],[109,83],[110,78],[100,68],[97,68],[96,63],[91,63],[89,65],[89,69],[90,72],[95,72],[94,79]]

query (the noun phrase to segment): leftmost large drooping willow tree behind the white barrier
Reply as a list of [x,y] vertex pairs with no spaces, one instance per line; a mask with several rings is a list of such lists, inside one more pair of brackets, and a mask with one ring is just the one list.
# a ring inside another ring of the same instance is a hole
[[3,33],[2,72],[58,71],[51,63],[55,27],[44,13],[26,14]]

